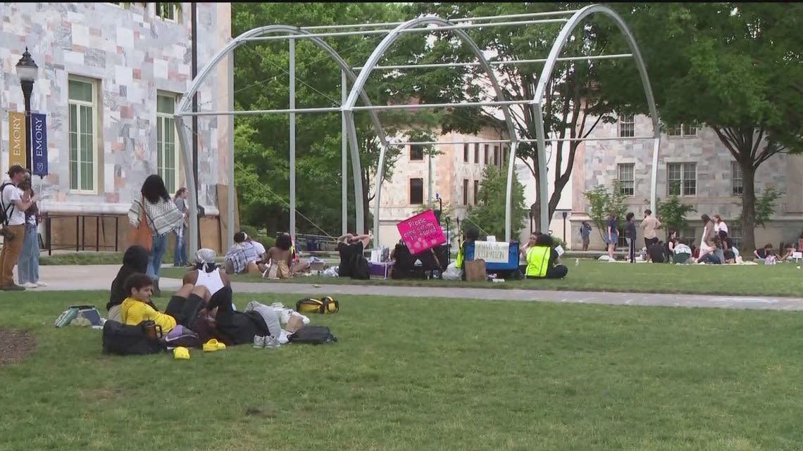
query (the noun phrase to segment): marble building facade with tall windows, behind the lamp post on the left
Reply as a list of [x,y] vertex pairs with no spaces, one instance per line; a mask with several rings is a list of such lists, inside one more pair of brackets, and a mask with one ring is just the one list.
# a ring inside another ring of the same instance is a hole
[[[125,213],[145,177],[159,173],[171,192],[185,186],[172,115],[193,78],[190,3],[164,6],[0,4],[2,169],[9,163],[7,112],[23,110],[14,65],[27,47],[39,65],[31,109],[47,114],[50,174],[35,178],[34,186],[51,220],[40,233],[55,246],[125,246]],[[229,3],[197,8],[200,70],[230,40],[231,10]],[[202,110],[228,109],[226,61],[219,67],[199,91]],[[199,203],[207,214],[202,244],[218,249],[218,189],[229,183],[230,124],[228,117],[198,124]]]

